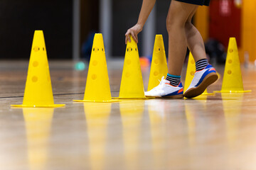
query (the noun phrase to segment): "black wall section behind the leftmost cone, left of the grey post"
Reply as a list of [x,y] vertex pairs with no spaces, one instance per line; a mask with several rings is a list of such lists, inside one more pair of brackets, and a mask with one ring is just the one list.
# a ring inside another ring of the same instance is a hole
[[72,57],[72,0],[1,0],[0,59],[29,59],[34,30],[43,30],[48,59]]

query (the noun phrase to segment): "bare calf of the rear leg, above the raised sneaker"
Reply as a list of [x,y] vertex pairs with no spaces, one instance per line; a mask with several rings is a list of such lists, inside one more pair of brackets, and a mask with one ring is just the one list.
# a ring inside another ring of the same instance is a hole
[[198,60],[206,59],[206,49],[201,33],[199,33],[198,29],[191,23],[192,17],[196,13],[196,9],[191,13],[188,21],[186,21],[185,30],[188,48],[197,62]]

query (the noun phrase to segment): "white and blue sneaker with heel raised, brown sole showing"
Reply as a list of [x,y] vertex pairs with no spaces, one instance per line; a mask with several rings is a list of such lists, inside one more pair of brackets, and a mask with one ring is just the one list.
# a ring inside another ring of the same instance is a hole
[[202,69],[195,73],[195,77],[193,78],[191,85],[188,87],[184,96],[186,98],[193,98],[203,94],[203,91],[206,88],[213,84],[218,79],[218,75],[216,74],[213,66],[208,64],[206,68]]

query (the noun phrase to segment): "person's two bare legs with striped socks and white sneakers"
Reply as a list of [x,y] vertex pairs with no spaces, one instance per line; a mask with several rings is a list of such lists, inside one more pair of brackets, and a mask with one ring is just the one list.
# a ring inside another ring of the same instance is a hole
[[[186,55],[186,47],[193,52],[195,60],[200,63],[206,59],[203,40],[200,33],[191,24],[191,18],[198,6],[186,4],[179,1],[171,1],[166,28],[169,34],[169,64],[166,79],[162,79],[159,86],[145,93],[146,96],[182,98],[183,86],[181,84],[181,70]],[[190,22],[188,22],[190,21]],[[206,61],[207,62],[207,61]],[[208,62],[207,62],[208,63]],[[191,86],[184,96],[191,98],[203,93],[206,87],[217,79],[215,69],[208,65],[201,72],[196,72]]]

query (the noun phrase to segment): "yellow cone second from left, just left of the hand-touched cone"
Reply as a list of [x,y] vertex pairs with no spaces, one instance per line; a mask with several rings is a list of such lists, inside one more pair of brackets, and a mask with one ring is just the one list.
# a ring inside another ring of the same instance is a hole
[[79,102],[114,102],[110,93],[110,81],[107,74],[107,62],[105,56],[105,47],[101,33],[96,33],[93,45],[92,55],[87,74],[85,86],[85,96],[83,100],[74,100]]

